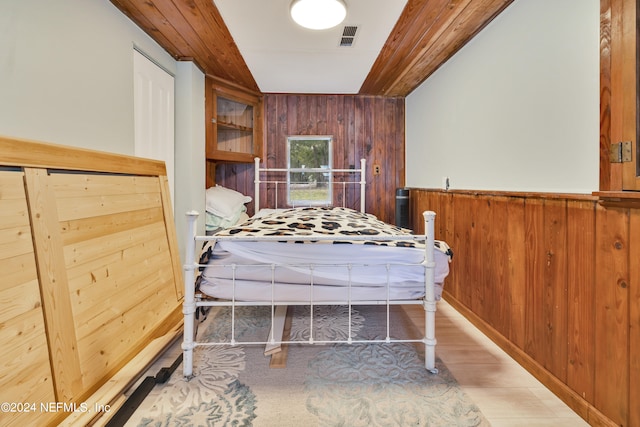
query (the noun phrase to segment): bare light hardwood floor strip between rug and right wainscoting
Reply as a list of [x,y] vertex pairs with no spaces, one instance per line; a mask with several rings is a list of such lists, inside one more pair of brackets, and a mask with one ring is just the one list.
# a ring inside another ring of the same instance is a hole
[[[424,330],[420,306],[405,306]],[[588,426],[446,301],[436,312],[436,355],[494,427]]]

